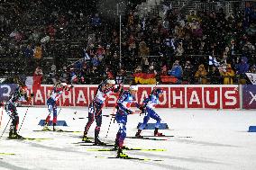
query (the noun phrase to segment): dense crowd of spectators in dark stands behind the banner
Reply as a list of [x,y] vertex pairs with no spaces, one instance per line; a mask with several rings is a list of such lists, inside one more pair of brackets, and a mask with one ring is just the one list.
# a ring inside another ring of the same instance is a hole
[[[123,17],[120,43],[118,18],[42,1],[31,5],[34,10],[3,8],[0,55],[35,59],[30,75],[43,58],[53,58],[43,67],[43,83],[98,84],[106,77],[129,83],[129,75],[145,73],[159,82],[169,76],[169,84],[228,85],[249,84],[245,73],[255,73],[255,6],[235,14],[193,11],[187,17],[172,9],[161,17],[133,9]],[[209,56],[217,62],[209,65]]]

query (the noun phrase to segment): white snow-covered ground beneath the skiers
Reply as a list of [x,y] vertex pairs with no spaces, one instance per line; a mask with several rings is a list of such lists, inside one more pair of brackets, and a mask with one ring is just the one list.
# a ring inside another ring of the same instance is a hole
[[[20,124],[26,107],[19,107]],[[74,114],[74,112],[78,112]],[[110,114],[113,108],[104,108],[103,114]],[[160,148],[165,151],[125,151],[131,157],[158,159],[162,161],[126,160],[115,157],[116,152],[92,151],[96,146],[80,146],[84,127],[87,123],[87,108],[62,108],[59,119],[67,121],[63,130],[79,130],[78,133],[41,132],[40,120],[47,115],[46,108],[29,108],[20,134],[30,138],[49,138],[48,140],[10,140],[8,129],[0,139],[0,169],[171,169],[171,170],[255,170],[256,133],[247,132],[249,126],[256,126],[255,111],[216,111],[158,109],[163,122],[169,130],[160,130],[172,138],[167,140],[125,139],[129,148]],[[1,111],[0,111],[1,113]],[[85,118],[85,119],[79,119]],[[127,136],[134,136],[136,127],[143,117],[129,115]],[[2,135],[9,120],[4,112],[0,129]],[[114,143],[117,124],[112,123],[108,137],[105,138],[110,117],[103,118],[100,138]],[[150,122],[154,122],[151,120]],[[94,137],[95,123],[88,136]],[[153,130],[143,130],[142,135],[152,135]],[[186,138],[191,137],[191,138]]]

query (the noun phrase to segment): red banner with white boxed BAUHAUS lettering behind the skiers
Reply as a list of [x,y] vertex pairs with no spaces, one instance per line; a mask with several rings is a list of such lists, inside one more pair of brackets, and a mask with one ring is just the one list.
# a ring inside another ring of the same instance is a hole
[[[209,108],[209,109],[237,109],[240,108],[240,96],[238,85],[158,85],[164,94],[160,97],[157,108]],[[128,85],[124,85],[127,89]],[[139,85],[136,100],[142,104],[155,85]],[[46,105],[50,96],[51,85],[41,85],[40,88],[32,89],[34,98],[33,105]],[[97,85],[74,85],[69,92],[61,95],[58,105],[60,106],[83,106],[87,107],[96,94]],[[118,94],[111,94],[105,106],[114,107]],[[28,103],[23,103],[28,104]]]

